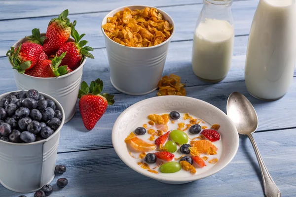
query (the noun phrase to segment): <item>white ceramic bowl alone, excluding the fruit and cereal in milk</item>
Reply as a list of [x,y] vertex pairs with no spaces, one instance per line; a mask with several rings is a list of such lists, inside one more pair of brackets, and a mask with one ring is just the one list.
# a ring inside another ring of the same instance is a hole
[[[133,131],[132,129],[136,127],[137,123],[147,119],[149,114],[166,113],[173,110],[189,113],[210,124],[219,124],[221,126],[219,133],[222,137],[222,155],[218,163],[210,170],[193,176],[188,173],[187,177],[168,177],[161,175],[161,173],[153,174],[142,169],[129,155],[124,139]],[[211,176],[222,170],[235,156],[239,145],[239,137],[232,121],[217,107],[190,97],[163,96],[142,100],[122,112],[112,129],[112,144],[119,158],[133,170],[160,182],[183,184]]]

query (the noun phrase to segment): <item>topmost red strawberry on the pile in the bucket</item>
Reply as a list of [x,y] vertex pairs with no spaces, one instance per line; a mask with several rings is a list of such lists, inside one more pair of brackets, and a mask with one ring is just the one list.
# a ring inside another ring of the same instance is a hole
[[70,37],[71,27],[76,25],[76,21],[70,23],[67,18],[68,9],[63,11],[58,18],[53,18],[48,24],[46,31],[46,39],[43,47],[46,55],[56,52]]

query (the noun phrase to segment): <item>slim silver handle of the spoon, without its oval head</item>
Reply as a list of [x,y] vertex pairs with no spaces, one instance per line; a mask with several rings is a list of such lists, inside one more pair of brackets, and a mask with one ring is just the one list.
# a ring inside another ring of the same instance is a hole
[[270,174],[268,173],[268,170],[262,160],[258,146],[255,142],[255,139],[253,138],[252,134],[248,134],[248,137],[250,138],[250,140],[252,142],[252,145],[255,150],[257,160],[258,160],[258,163],[260,166],[265,196],[266,197],[281,197],[280,190],[275,185],[274,181],[272,180],[272,178],[271,178]]

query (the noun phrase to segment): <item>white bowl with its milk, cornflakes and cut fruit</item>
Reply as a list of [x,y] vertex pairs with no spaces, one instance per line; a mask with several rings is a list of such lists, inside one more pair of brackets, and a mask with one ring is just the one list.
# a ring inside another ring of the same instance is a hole
[[112,144],[135,171],[183,184],[222,170],[235,156],[239,138],[217,107],[199,99],[164,96],[122,112],[112,129]]

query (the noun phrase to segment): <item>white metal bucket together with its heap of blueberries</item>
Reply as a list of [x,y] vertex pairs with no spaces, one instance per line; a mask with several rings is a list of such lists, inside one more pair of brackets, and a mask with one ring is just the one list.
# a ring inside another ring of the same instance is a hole
[[62,105],[37,90],[0,95],[0,183],[31,193],[54,178]]

